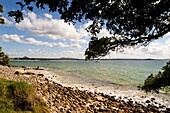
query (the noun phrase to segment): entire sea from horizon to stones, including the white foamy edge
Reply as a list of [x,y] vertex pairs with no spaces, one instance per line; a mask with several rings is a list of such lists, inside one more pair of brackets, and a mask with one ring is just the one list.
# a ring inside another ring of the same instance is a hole
[[110,95],[156,98],[157,102],[170,107],[169,93],[146,94],[137,89],[151,73],[154,75],[162,71],[162,67],[168,61],[167,59],[22,60],[11,61],[11,64],[45,68],[51,72],[52,79],[65,86]]

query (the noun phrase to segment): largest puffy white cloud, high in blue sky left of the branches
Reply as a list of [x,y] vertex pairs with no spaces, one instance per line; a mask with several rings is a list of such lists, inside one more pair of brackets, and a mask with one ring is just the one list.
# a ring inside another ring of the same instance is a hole
[[49,39],[76,39],[87,37],[85,29],[76,29],[73,24],[65,23],[64,20],[52,19],[52,15],[44,14],[44,17],[37,17],[33,12],[26,14],[24,20],[16,24],[18,29],[28,30],[32,34]]

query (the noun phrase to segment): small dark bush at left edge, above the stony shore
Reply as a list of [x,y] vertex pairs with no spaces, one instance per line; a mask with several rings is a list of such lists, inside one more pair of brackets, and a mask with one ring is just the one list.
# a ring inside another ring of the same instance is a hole
[[2,47],[0,47],[0,58],[2,58],[2,61],[0,61],[1,65],[10,66],[10,59],[8,55],[2,52]]

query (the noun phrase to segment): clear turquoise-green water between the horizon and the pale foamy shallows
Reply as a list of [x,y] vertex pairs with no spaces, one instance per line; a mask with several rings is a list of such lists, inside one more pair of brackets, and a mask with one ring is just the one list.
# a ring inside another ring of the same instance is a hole
[[168,60],[55,60],[55,61],[12,61],[12,65],[44,67],[70,81],[99,82],[137,86],[151,74],[156,74]]

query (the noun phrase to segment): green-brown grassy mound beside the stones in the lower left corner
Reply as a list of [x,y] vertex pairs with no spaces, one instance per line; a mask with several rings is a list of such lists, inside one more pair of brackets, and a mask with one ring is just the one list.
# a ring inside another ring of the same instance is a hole
[[49,113],[49,109],[30,84],[0,78],[0,113]]

